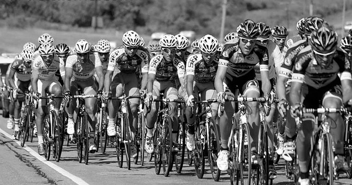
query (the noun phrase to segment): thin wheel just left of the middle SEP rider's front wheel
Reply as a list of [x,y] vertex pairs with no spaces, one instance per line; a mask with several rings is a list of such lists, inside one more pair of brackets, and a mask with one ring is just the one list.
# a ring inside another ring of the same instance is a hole
[[[153,136],[153,145],[154,145],[154,169],[155,173],[158,175],[160,174],[160,169],[161,169],[161,156],[162,156],[162,149],[161,149],[161,124],[160,124],[160,119],[155,124],[155,132]],[[152,154],[150,155],[152,156]]]

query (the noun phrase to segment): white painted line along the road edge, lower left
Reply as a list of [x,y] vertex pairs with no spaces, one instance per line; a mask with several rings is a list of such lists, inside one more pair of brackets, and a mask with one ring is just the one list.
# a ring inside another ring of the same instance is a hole
[[[12,139],[12,136],[10,134],[8,134],[7,132],[5,132],[3,129],[0,129],[0,132],[3,133],[6,137]],[[21,146],[20,141],[16,141],[16,143]],[[79,178],[78,176],[75,176],[72,173],[64,170],[60,166],[58,166],[50,161],[47,161],[43,156],[39,155],[36,151],[34,151],[32,148],[28,147],[27,145],[25,145],[25,147],[23,147],[23,149],[27,150],[31,155],[33,155],[35,158],[42,161],[44,164],[48,165],[49,167],[53,168],[55,171],[59,172],[63,176],[66,176],[67,178],[71,179],[76,184],[89,185],[89,183],[85,182],[83,179]]]

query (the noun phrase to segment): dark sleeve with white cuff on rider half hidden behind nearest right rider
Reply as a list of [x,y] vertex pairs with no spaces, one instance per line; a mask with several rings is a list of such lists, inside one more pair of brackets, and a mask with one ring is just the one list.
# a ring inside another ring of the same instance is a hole
[[284,76],[291,79],[292,70],[298,53],[308,46],[307,40],[300,40],[295,42],[288,50],[285,55],[284,63],[280,67],[279,76]]

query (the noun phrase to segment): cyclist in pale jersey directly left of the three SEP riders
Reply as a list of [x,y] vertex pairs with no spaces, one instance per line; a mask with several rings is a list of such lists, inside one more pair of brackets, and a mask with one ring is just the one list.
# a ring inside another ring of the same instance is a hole
[[[91,47],[86,40],[78,40],[75,44],[74,50],[76,55],[68,56],[65,65],[65,97],[70,98],[72,95],[76,95],[78,93],[78,88],[82,89],[82,93],[84,95],[102,95],[104,87],[104,74],[99,57],[93,53],[90,53]],[[98,89],[95,80],[93,80],[95,72],[99,76]],[[89,120],[92,120],[90,123],[93,128],[91,130],[91,138],[89,140],[90,153],[95,153],[97,151],[97,146],[94,143],[96,128],[96,102],[96,98],[84,99],[85,110],[89,116]],[[72,98],[67,109],[67,134],[70,135],[74,134],[73,108],[77,106],[75,103],[76,100]]]

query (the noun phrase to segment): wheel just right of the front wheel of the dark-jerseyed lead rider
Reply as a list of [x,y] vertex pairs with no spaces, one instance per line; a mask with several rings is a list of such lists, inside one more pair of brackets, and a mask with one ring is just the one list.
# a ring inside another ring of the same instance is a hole
[[258,164],[259,164],[259,182],[260,184],[269,183],[269,146],[267,123],[261,122],[259,127],[259,148],[258,148]]

